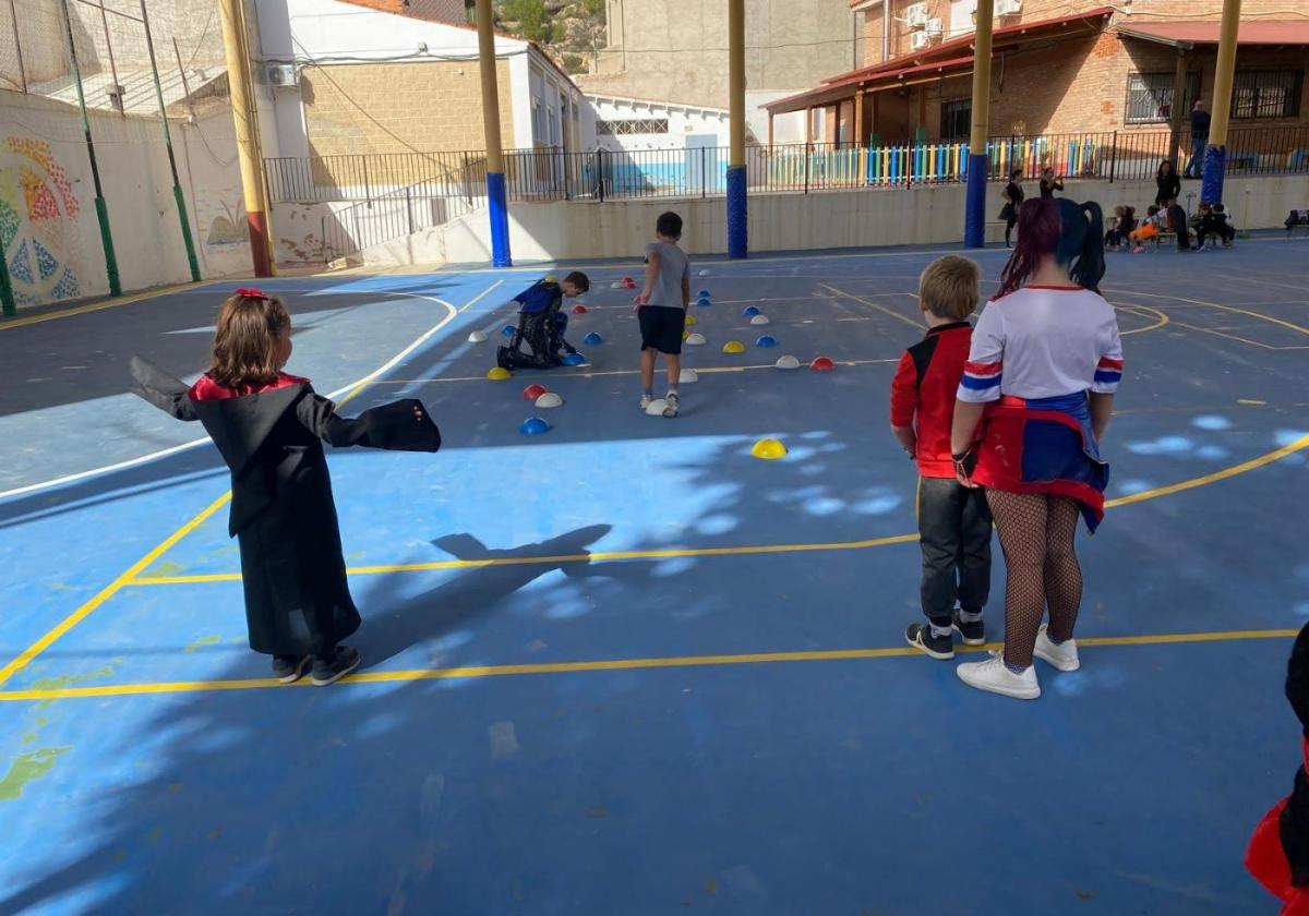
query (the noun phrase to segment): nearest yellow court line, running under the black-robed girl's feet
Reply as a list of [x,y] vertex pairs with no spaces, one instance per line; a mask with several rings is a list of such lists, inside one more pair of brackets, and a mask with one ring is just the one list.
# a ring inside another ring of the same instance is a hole
[[[1080,646],[1179,645],[1190,643],[1228,643],[1244,640],[1292,639],[1296,629],[1233,629],[1204,633],[1158,633],[1153,636],[1092,636],[1079,639]],[[963,646],[958,652],[997,650],[1003,644]],[[724,667],[730,665],[779,665],[787,662],[870,661],[876,658],[908,658],[920,654],[911,646],[888,649],[821,649],[809,652],[751,652],[721,656],[669,656],[656,658],[605,658],[581,662],[541,662],[535,665],[473,665],[467,667],[435,667],[401,671],[364,671],[343,679],[342,684],[414,683],[419,680],[465,680],[474,678],[524,677],[537,674],[581,674],[594,671],[636,671],[652,669]],[[305,688],[305,680],[293,684]],[[195,694],[234,690],[271,690],[284,684],[272,678],[242,680],[171,680],[136,684],[101,684],[56,690],[0,691],[0,701],[35,703],[106,696],[144,696],[157,694]]]

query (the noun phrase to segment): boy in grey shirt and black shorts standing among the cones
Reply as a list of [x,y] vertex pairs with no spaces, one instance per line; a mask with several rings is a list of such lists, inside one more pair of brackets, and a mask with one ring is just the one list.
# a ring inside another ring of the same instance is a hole
[[654,400],[654,359],[662,353],[668,369],[668,395],[664,416],[677,416],[682,376],[682,332],[686,310],[691,306],[691,262],[678,247],[682,217],[662,213],[654,224],[654,241],[645,246],[645,288],[637,293],[634,310],[641,326],[641,410]]

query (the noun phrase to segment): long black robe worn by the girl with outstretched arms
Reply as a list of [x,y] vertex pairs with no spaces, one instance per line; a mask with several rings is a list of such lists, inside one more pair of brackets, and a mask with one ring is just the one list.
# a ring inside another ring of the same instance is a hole
[[140,357],[132,359],[132,376],[137,395],[179,420],[199,420],[232,471],[228,534],[241,548],[250,648],[331,657],[360,618],[346,582],[322,442],[436,451],[441,433],[427,408],[397,400],[346,420],[308,381],[202,400]]

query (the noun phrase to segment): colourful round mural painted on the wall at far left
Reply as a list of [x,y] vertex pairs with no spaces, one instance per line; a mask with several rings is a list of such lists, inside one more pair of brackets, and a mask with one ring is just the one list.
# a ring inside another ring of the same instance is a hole
[[82,294],[80,207],[50,144],[5,137],[0,145],[0,256],[20,306]]

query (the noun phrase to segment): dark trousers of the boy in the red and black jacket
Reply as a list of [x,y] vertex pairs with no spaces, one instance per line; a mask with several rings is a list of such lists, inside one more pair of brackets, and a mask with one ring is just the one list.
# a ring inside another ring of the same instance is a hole
[[920,478],[918,534],[923,614],[946,625],[956,601],[965,611],[980,611],[991,594],[991,510],[984,492],[953,478]]

